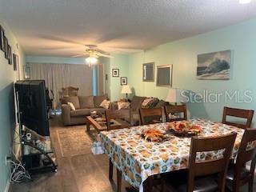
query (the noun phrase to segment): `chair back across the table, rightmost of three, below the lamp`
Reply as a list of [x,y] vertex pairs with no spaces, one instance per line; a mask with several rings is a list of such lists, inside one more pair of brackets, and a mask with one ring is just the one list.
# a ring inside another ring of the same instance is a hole
[[[165,106],[166,122],[187,120],[186,105]],[[182,114],[182,117],[170,118],[170,115]]]

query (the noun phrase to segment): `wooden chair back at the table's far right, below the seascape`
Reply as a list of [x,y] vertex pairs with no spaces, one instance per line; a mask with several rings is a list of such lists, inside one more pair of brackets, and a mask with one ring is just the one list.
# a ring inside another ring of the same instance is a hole
[[[246,123],[242,122],[230,122],[227,120],[227,116],[235,117],[235,118],[244,118],[246,119]],[[242,129],[250,128],[252,119],[254,117],[254,110],[240,110],[230,107],[224,107],[222,123],[230,126],[237,126]]]

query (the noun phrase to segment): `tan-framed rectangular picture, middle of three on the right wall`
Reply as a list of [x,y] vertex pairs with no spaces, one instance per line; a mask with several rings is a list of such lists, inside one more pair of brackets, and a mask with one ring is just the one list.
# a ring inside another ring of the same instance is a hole
[[173,66],[157,67],[157,86],[172,86]]

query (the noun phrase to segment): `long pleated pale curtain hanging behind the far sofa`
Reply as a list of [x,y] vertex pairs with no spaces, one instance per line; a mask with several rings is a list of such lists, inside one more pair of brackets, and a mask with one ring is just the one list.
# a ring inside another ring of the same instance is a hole
[[60,106],[62,87],[78,87],[79,95],[92,94],[92,71],[81,64],[29,63],[30,79],[43,79],[46,87],[54,92],[54,108]]

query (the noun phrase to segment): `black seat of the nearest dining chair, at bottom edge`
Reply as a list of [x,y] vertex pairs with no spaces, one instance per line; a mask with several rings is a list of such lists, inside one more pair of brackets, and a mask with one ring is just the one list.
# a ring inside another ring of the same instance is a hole
[[[171,191],[186,192],[187,188],[187,171],[179,170],[175,171],[174,174],[170,173],[165,178],[166,187],[170,188]],[[218,190],[218,182],[216,177],[203,176],[195,178],[194,180],[194,192],[214,192]]]

